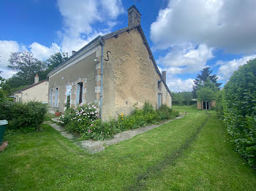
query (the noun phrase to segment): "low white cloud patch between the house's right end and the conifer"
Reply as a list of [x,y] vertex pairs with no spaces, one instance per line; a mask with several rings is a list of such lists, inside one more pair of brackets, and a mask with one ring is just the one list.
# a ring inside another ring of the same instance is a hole
[[172,92],[192,91],[193,80],[191,78],[182,80],[181,78],[168,77],[167,85]]

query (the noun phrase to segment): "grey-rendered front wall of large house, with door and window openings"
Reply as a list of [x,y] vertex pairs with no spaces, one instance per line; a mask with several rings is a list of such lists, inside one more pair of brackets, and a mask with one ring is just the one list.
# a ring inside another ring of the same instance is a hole
[[[70,98],[70,105],[75,106],[76,103],[76,93],[78,88],[78,83],[83,82],[83,104],[89,104],[90,102],[97,101],[97,70],[94,59],[99,56],[99,48],[88,55],[83,60],[78,61],[72,66],[66,69],[60,69],[57,74],[53,74],[49,77],[49,95],[48,104],[50,105],[50,90],[53,90],[53,104],[51,109],[60,112],[64,112],[67,104],[67,86],[72,86],[72,93]],[[58,88],[59,98],[58,104],[55,106],[55,91]]]

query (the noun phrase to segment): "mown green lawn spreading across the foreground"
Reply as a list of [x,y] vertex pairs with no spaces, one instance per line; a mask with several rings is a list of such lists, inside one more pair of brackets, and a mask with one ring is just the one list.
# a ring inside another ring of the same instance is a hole
[[6,136],[0,190],[256,190],[214,111],[187,115],[91,155],[42,125]]

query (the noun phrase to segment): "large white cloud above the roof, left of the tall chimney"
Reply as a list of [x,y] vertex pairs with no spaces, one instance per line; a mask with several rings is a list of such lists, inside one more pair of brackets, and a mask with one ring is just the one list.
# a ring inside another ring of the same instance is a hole
[[[124,12],[121,0],[59,0],[59,10],[64,17],[61,32],[62,52],[79,50],[99,34],[106,34],[116,25],[116,18]],[[92,25],[99,24],[95,30]]]

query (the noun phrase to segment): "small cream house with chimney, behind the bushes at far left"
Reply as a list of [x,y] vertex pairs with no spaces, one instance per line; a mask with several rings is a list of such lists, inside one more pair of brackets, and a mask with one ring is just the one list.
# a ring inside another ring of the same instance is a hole
[[34,77],[34,84],[15,91],[13,101],[39,101],[46,104],[48,102],[48,82],[46,79],[39,82],[39,77],[36,75]]

